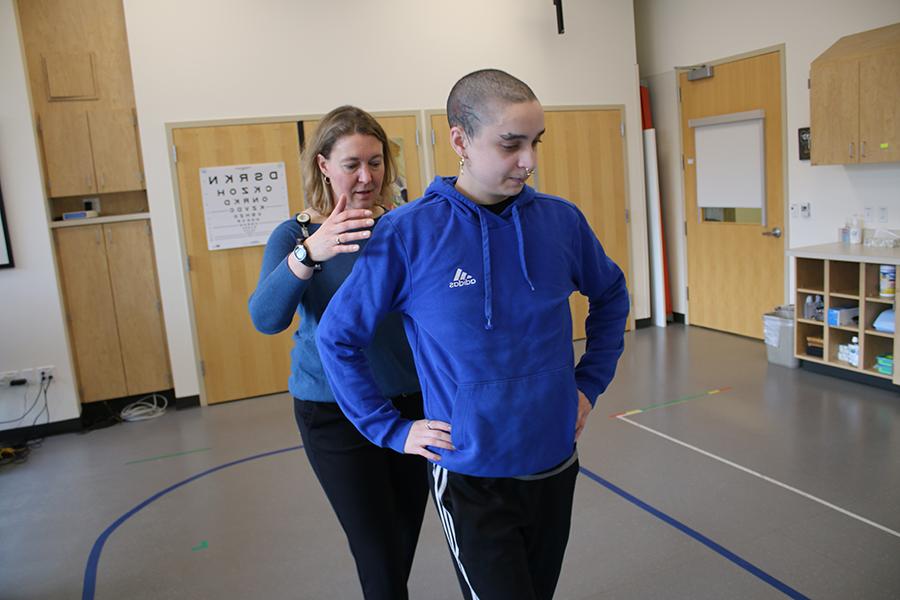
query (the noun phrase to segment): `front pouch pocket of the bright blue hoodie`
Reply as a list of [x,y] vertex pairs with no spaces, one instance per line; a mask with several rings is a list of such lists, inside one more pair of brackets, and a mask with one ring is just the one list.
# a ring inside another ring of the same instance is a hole
[[456,458],[485,475],[549,469],[572,453],[577,412],[574,367],[462,384],[452,419]]

